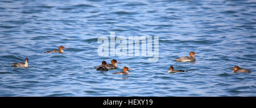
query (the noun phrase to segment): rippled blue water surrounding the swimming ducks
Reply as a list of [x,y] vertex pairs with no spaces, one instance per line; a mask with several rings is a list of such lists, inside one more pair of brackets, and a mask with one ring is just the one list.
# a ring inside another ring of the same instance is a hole
[[[256,2],[0,1],[0,96],[256,96]],[[97,54],[98,37],[159,36],[159,60]],[[68,47],[63,54],[44,51]],[[172,61],[196,55],[195,63]],[[29,67],[12,67],[24,62]],[[117,70],[96,71],[117,59]],[[168,68],[186,70],[168,74]],[[234,66],[251,73],[232,73]],[[123,66],[130,75],[113,75]]]

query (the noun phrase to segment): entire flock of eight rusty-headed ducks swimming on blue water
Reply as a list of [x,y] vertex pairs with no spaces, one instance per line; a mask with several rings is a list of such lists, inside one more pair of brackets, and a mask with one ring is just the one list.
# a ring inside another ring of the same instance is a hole
[[[64,53],[63,49],[67,49],[67,47],[63,47],[63,46],[59,46],[59,49],[56,50],[51,50],[51,51],[46,51],[44,53]],[[199,55],[194,53],[193,51],[191,51],[189,53],[190,57],[181,57],[181,58],[177,58],[174,59],[174,61],[178,61],[178,62],[195,62],[196,58],[194,57],[194,55]],[[112,59],[111,64],[106,63],[106,61],[102,61],[100,66],[96,66],[95,68],[97,68],[97,71],[108,71],[108,70],[114,70],[117,69],[117,64],[115,63],[120,63],[117,62],[117,60]],[[27,68],[28,67],[28,58],[25,59],[25,63],[11,63],[14,67],[24,67]],[[131,70],[128,67],[123,67],[123,71],[120,72],[115,72],[113,74],[123,74],[123,75],[127,75],[129,74],[129,72],[127,70]],[[187,71],[183,71],[183,70],[174,70],[173,66],[170,66],[170,68],[168,69],[169,73],[176,73],[176,72],[187,72]],[[250,71],[246,68],[240,68],[238,66],[234,66],[234,68],[231,68],[231,70],[233,70],[232,72],[247,72],[250,73]]]

